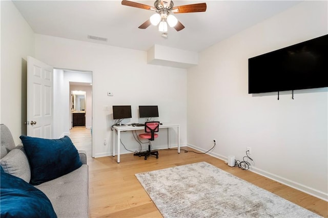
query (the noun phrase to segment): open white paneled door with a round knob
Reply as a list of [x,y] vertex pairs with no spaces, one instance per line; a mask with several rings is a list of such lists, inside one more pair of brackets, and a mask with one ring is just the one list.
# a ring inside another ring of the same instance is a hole
[[53,137],[53,67],[27,57],[27,135]]

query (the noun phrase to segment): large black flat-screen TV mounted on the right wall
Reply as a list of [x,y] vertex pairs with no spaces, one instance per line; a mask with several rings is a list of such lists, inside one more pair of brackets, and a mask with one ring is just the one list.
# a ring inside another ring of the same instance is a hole
[[328,35],[249,58],[248,93],[328,86]]

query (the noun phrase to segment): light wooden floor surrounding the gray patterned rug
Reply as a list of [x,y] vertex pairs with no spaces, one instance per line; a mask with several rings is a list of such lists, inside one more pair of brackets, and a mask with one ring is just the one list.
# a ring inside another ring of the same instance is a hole
[[[86,146],[78,135],[86,137],[83,128],[72,130],[71,138],[78,148],[79,143]],[[89,135],[91,138],[91,135]],[[87,136],[88,138],[88,136]],[[84,138],[85,141],[88,141]],[[89,139],[91,141],[91,139]],[[91,144],[90,144],[91,147]],[[91,151],[91,148],[87,148]],[[185,147],[185,149],[193,150]],[[121,162],[116,157],[88,158],[89,165],[89,209],[90,217],[162,217],[148,194],[134,176],[135,173],[163,169],[205,161],[220,169],[246,180],[263,189],[271,191],[301,207],[311,210],[323,217],[328,217],[328,203],[285,186],[251,171],[229,167],[222,160],[209,155],[199,155],[194,152],[177,154],[176,150],[160,150],[159,158],[150,157],[147,160],[132,154],[121,155]]]

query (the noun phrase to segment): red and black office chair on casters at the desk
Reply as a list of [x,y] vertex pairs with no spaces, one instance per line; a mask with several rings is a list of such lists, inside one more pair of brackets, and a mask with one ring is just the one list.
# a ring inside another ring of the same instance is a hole
[[145,123],[145,133],[144,134],[139,134],[139,137],[142,139],[148,139],[148,150],[145,152],[140,152],[139,157],[145,156],[145,160],[150,155],[156,156],[156,159],[158,159],[158,151],[151,151],[151,144],[150,141],[154,141],[155,138],[158,137],[158,134],[156,134],[159,130],[159,122],[158,121],[153,121],[153,122],[146,122]]

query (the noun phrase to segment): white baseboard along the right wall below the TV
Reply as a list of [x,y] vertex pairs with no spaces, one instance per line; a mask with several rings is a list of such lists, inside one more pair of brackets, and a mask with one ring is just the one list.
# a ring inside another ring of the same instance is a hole
[[[202,152],[206,152],[207,151],[207,150],[204,150],[202,148],[199,148],[199,147],[194,146],[194,145],[191,145],[191,144],[187,144],[187,146],[189,146],[191,148],[194,148],[196,150],[202,151]],[[207,154],[210,155],[210,156],[213,156],[215,158],[221,159],[223,161],[228,161],[228,157],[225,157],[225,156],[216,154],[215,152],[208,152]],[[253,167],[253,166],[252,166],[252,169],[250,169],[250,171],[255,172],[258,175],[261,175],[263,177],[267,177],[269,179],[272,179],[272,180],[274,180],[276,182],[279,182],[279,183],[282,183],[284,185],[287,185],[287,186],[290,186],[292,188],[295,188],[297,190],[300,190],[302,192],[311,194],[314,197],[317,197],[317,198],[319,198],[321,200],[328,201],[328,194],[327,193],[324,193],[322,191],[319,191],[319,190],[313,189],[311,187],[308,187],[308,186],[299,184],[299,183],[294,182],[294,181],[291,181],[289,179],[285,179],[285,178],[279,177],[277,175],[274,175],[273,173],[267,172],[265,170],[262,170],[262,169],[259,169],[259,168]]]

